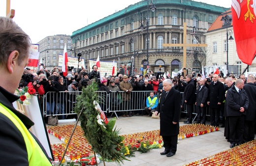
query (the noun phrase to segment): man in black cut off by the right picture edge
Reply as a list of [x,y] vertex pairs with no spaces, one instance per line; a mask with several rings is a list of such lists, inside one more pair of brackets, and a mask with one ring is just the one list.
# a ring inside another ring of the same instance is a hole
[[256,84],[255,78],[250,76],[247,78],[247,84],[245,84],[244,89],[249,98],[249,107],[246,110],[245,116],[245,128],[244,128],[244,142],[254,140],[254,122],[255,122],[255,112],[256,112]]

